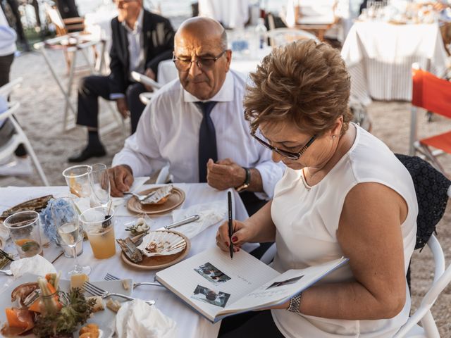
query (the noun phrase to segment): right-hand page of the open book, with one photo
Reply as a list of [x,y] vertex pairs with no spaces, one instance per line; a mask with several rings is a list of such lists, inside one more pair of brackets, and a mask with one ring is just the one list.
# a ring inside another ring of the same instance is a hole
[[217,316],[222,317],[229,313],[239,313],[284,303],[346,262],[347,258],[340,258],[305,269],[288,270],[252,290],[238,301],[228,304]]

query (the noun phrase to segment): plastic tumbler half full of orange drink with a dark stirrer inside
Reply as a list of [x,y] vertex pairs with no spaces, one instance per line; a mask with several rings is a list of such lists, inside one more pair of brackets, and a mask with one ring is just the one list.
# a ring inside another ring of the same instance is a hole
[[116,253],[114,237],[114,211],[106,206],[87,209],[80,215],[80,221],[87,233],[95,258],[104,259]]

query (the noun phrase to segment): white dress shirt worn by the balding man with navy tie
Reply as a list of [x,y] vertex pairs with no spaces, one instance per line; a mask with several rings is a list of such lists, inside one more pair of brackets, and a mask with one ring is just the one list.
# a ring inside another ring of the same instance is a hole
[[[242,99],[245,77],[230,70],[211,111],[216,130],[218,160],[230,158],[238,165],[259,170],[266,199],[273,196],[284,166],[271,160],[271,151],[249,134]],[[200,101],[173,80],[152,98],[142,113],[135,134],[125,140],[124,148],[113,158],[113,165],[130,165],[133,175],[151,175],[166,163],[173,182],[199,182],[199,128],[202,112],[194,102]]]

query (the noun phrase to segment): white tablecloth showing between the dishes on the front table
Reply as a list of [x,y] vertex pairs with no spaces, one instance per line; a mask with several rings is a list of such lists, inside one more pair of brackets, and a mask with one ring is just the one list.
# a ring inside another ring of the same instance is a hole
[[[194,204],[223,201],[227,203],[227,192],[219,192],[216,189],[209,187],[207,184],[183,184],[185,189],[186,199],[181,208],[187,208]],[[143,189],[146,189],[144,186]],[[32,199],[38,196],[46,194],[54,194],[55,196],[61,196],[68,194],[67,187],[6,187],[0,188],[0,212],[10,208],[20,202]],[[247,212],[245,206],[242,204],[241,199],[234,192],[234,204],[235,204],[235,218],[238,220],[244,220],[247,218]],[[156,227],[171,223],[171,216],[164,215],[152,218],[156,221]],[[124,230],[123,223],[130,220],[130,217],[118,217],[116,222],[115,232],[116,238],[125,238],[128,236],[128,232]],[[218,223],[219,225],[220,223]],[[198,234],[191,239],[191,249],[187,257],[193,256],[205,249],[216,245],[216,230],[218,225],[209,227],[204,232]],[[118,246],[116,246],[118,248]],[[78,261],[81,264],[88,264],[92,267],[92,273],[89,275],[91,281],[103,280],[106,273],[111,273],[118,277],[132,278],[135,282],[149,282],[154,280],[156,271],[142,271],[130,268],[129,265],[123,263],[120,255],[120,249],[117,250],[116,256],[108,259],[99,260],[92,256],[91,246],[88,242],[84,242],[83,253],[78,257]],[[44,257],[49,259],[49,253],[53,252],[49,249],[44,250]],[[61,270],[63,274],[67,273],[73,267],[73,258],[66,258],[61,256],[58,258],[54,266],[56,270]],[[6,277],[0,275],[0,287],[9,284],[13,281],[13,277]],[[218,335],[220,323],[215,325],[211,324],[201,315],[198,315],[191,308],[185,305],[180,299],[173,296],[171,292],[166,291],[162,287],[147,287],[142,286],[137,288],[133,292],[133,296],[142,299],[155,299],[156,307],[159,308],[165,315],[173,318],[178,326],[178,337],[180,338],[200,338],[200,337],[216,337]],[[3,304],[2,304],[3,305]],[[3,311],[3,310],[1,310]]]

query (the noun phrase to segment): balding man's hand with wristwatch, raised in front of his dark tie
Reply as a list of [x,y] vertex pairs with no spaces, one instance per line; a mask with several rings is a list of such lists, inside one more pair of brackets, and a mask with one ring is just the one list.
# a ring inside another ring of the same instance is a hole
[[216,163],[210,158],[206,168],[206,182],[218,190],[239,187],[246,180],[245,168],[237,165],[230,158]]

